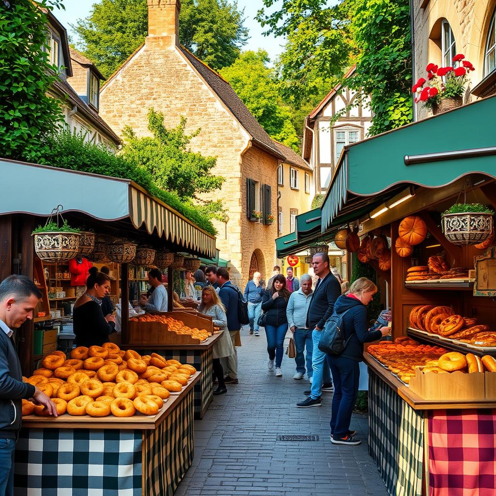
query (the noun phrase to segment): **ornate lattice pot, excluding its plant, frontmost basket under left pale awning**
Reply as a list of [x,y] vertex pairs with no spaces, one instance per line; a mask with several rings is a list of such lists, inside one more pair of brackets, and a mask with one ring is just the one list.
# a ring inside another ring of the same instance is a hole
[[36,254],[45,262],[66,262],[79,251],[79,233],[53,231],[33,236]]

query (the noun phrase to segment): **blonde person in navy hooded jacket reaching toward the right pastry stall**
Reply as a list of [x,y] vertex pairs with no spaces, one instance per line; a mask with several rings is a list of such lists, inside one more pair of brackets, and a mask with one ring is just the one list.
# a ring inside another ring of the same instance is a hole
[[359,363],[364,358],[364,343],[377,341],[389,334],[389,327],[369,329],[367,305],[377,292],[377,286],[367,279],[357,279],[334,304],[334,313],[342,315],[343,341],[347,342],[341,355],[330,355],[330,368],[334,382],[331,409],[331,442],[334,444],[360,444],[350,431],[351,414],[358,395]]

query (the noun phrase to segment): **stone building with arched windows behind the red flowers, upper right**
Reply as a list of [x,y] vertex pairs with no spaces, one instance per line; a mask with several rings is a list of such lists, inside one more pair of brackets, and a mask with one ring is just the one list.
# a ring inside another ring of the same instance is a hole
[[[475,67],[464,103],[496,93],[496,0],[414,0],[414,80],[426,66],[453,65],[463,54]],[[416,120],[430,115],[415,105]]]

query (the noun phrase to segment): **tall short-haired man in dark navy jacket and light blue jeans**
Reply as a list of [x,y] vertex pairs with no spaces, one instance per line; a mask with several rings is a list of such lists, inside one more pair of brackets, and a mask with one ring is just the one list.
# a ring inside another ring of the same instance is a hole
[[313,377],[309,397],[305,401],[297,403],[300,408],[320,406],[322,390],[332,391],[327,355],[318,349],[318,343],[320,342],[324,324],[332,315],[336,300],[341,296],[341,285],[329,268],[329,256],[327,253],[315,253],[312,265],[314,274],[318,276],[307,314],[307,327],[313,329],[311,361]]

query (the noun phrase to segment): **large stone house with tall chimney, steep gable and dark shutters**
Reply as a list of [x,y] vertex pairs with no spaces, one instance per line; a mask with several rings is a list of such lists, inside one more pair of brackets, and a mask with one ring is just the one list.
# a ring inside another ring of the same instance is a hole
[[118,133],[130,125],[150,135],[150,108],[168,127],[185,116],[187,131],[201,128],[191,149],[216,156],[214,173],[226,179],[217,194],[228,220],[215,222],[217,248],[244,285],[250,271],[272,270],[277,223],[266,216],[277,212],[277,167],[284,156],[229,83],[180,45],[180,8],[179,0],[148,0],[148,36],[103,86],[100,112]]

